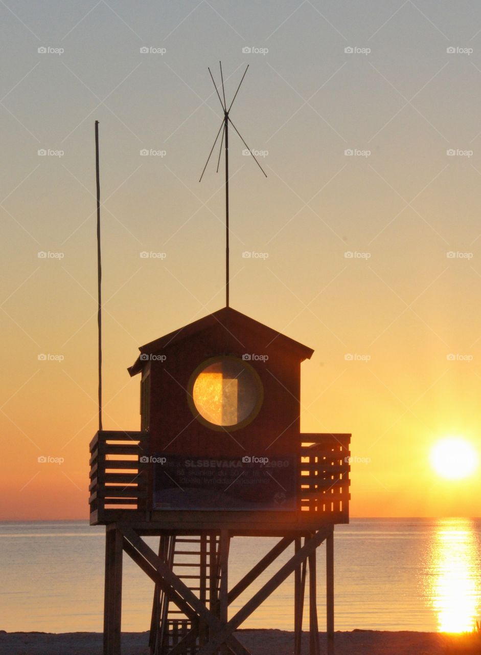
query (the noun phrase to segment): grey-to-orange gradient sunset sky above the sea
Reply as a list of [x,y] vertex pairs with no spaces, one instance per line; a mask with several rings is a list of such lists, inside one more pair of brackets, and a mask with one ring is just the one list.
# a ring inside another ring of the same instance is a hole
[[231,305],[315,349],[302,429],[352,432],[369,460],[352,515],[479,515],[480,476],[439,479],[429,449],[480,446],[481,5],[5,0],[0,16],[0,517],[88,515],[95,119],[106,429],[139,428],[137,346],[224,304],[222,177],[198,183],[220,58],[228,98],[250,64],[232,120],[268,152],[265,179],[230,136]]

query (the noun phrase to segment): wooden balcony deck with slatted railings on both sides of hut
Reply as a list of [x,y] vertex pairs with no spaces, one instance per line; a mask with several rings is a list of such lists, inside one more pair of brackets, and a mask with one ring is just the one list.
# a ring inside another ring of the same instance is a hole
[[350,434],[300,434],[297,508],[292,511],[152,510],[145,432],[102,430],[90,443],[90,524],[128,523],[143,534],[308,533],[349,522]]

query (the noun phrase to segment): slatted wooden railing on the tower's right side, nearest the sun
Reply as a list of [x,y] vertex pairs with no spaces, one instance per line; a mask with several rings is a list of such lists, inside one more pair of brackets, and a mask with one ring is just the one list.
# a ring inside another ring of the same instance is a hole
[[300,510],[349,519],[350,434],[302,434]]

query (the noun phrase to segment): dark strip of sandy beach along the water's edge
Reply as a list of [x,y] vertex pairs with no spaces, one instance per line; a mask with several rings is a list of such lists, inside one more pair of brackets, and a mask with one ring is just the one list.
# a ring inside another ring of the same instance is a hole
[[[252,655],[291,655],[293,633],[282,630],[240,630],[238,639]],[[149,633],[122,633],[122,655],[148,655]],[[453,642],[454,640],[454,642]],[[325,634],[321,633],[325,654]],[[441,655],[451,650],[456,638],[439,633],[411,631],[353,630],[336,632],[336,655]],[[308,654],[309,637],[304,635],[303,655]],[[0,633],[1,655],[101,655],[100,633]],[[474,652],[474,651],[471,651]],[[479,651],[478,651],[479,652]]]

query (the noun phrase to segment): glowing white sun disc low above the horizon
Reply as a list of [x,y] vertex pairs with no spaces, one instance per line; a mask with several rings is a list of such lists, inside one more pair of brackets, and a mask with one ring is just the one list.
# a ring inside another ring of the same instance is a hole
[[431,449],[431,464],[438,476],[458,480],[471,476],[478,468],[478,453],[469,441],[446,437]]

